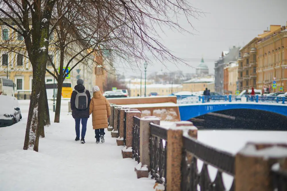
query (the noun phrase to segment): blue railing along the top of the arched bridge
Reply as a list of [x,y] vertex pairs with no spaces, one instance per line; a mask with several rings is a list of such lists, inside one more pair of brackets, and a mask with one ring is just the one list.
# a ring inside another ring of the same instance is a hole
[[286,97],[261,96],[261,95],[216,95],[216,96],[178,96],[177,103],[208,103],[208,102],[267,102],[285,104]]

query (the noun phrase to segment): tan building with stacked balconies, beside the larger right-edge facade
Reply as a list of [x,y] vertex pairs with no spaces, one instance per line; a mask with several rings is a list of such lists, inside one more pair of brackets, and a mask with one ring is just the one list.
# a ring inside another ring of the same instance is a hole
[[[280,25],[270,25],[270,30],[263,31],[263,34],[259,34],[247,45],[241,48],[240,56],[238,58],[238,87],[240,91],[244,89],[251,89],[252,87],[263,89],[263,71],[262,67],[261,69],[258,67],[259,62],[263,61],[262,56],[258,55],[258,42],[267,36],[274,34],[274,32],[280,28]],[[269,84],[267,86],[269,86]]]

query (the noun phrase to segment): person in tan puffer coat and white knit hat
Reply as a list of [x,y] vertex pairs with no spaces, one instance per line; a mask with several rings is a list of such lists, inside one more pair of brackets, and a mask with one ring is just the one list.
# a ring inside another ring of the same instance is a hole
[[90,103],[90,115],[92,114],[93,129],[95,129],[96,143],[104,143],[104,129],[108,128],[108,117],[110,117],[110,103],[100,92],[98,86],[94,86],[93,97]]

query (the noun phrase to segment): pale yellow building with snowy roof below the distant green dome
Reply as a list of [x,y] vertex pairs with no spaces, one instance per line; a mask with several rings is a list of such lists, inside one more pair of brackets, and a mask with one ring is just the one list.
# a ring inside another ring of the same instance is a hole
[[208,88],[208,84],[214,82],[214,77],[210,78],[193,78],[182,83],[183,91],[199,92]]

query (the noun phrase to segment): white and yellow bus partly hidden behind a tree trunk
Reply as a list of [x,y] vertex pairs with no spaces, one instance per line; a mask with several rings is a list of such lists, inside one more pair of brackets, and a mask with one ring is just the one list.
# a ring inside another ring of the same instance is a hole
[[[57,82],[46,82],[46,92],[47,98],[53,99],[54,98],[54,88],[55,88],[55,98],[57,97]],[[72,83],[71,82],[64,82],[62,87],[62,98],[71,98],[73,92]]]

